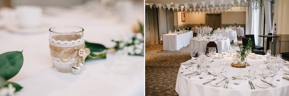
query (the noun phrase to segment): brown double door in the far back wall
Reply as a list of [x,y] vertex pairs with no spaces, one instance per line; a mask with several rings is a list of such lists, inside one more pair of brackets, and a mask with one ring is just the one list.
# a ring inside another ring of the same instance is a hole
[[207,14],[207,25],[213,29],[221,27],[221,14]]

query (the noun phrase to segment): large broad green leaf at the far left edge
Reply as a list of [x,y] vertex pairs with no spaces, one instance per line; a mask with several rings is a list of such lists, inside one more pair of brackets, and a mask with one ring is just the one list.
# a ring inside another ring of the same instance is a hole
[[0,76],[5,80],[14,77],[22,67],[23,55],[22,51],[12,51],[0,55]]

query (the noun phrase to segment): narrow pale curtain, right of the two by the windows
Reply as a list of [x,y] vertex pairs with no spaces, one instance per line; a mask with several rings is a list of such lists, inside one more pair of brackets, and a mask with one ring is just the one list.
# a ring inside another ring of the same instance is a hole
[[264,0],[264,8],[265,8],[265,34],[272,33],[271,26],[271,4],[270,0]]

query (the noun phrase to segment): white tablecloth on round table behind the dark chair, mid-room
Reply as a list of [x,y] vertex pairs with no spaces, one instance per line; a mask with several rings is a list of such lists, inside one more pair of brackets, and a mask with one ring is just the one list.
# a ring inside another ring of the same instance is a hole
[[[190,40],[190,55],[194,57],[197,52],[206,52],[207,44],[210,41]],[[227,46],[230,45],[230,40],[214,40],[217,44],[218,53],[227,52]]]

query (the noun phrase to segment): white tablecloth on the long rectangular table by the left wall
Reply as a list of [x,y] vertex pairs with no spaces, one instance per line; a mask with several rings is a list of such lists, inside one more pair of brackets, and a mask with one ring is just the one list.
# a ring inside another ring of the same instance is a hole
[[186,47],[190,43],[190,38],[193,37],[193,32],[186,32],[183,34],[164,34],[161,37],[163,40],[163,50],[175,51]]

